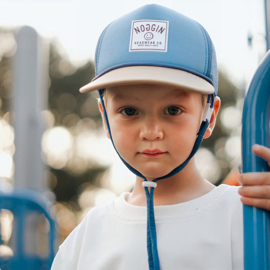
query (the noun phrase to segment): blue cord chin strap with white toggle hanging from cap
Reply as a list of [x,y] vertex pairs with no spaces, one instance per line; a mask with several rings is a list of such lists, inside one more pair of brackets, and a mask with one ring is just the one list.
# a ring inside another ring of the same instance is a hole
[[[99,97],[100,97],[100,102],[103,108],[103,113],[104,113],[104,119],[108,128],[108,132],[110,135],[110,139],[112,142],[112,145],[117,151],[117,149],[114,146],[111,132],[110,132],[110,126],[108,122],[108,117],[107,117],[107,112],[106,108],[104,105],[103,97],[102,97],[102,92],[103,90],[99,90]],[[134,174],[137,176],[143,178],[143,183],[142,186],[144,187],[145,194],[146,194],[146,203],[147,203],[147,252],[148,252],[148,264],[149,264],[149,270],[160,270],[160,260],[159,260],[159,253],[158,253],[158,246],[157,246],[157,231],[156,231],[156,222],[155,222],[155,212],[154,212],[154,204],[153,204],[153,191],[157,186],[157,181],[172,177],[173,175],[179,173],[185,166],[186,164],[190,161],[190,159],[195,155],[197,152],[202,140],[203,136],[209,126],[209,121],[211,119],[212,111],[213,111],[213,106],[214,106],[214,94],[208,95],[207,99],[207,104],[205,108],[205,113],[203,116],[203,122],[200,126],[199,132],[197,134],[197,139],[195,141],[195,144],[191,150],[191,153],[189,157],[184,161],[182,164],[180,164],[178,167],[176,167],[174,170],[172,170],[170,173],[168,173],[165,176],[156,178],[152,181],[147,181],[147,179],[137,170],[135,170],[133,167],[131,167],[125,160],[122,159],[120,156],[119,152],[118,156],[120,159],[123,161],[123,163],[129,168],[130,171],[132,171]]]

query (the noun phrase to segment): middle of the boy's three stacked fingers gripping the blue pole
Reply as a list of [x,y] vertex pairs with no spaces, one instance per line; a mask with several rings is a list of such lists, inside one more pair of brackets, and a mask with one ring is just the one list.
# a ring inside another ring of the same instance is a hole
[[241,196],[250,198],[268,198],[270,201],[270,186],[269,185],[250,185],[241,186],[238,190]]

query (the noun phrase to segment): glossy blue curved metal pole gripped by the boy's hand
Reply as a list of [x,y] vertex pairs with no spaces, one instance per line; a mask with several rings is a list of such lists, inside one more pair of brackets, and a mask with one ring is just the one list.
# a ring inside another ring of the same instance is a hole
[[[262,59],[249,86],[243,108],[243,172],[269,171],[267,162],[251,147],[270,146],[270,51]],[[270,269],[270,212],[244,205],[245,270]]]

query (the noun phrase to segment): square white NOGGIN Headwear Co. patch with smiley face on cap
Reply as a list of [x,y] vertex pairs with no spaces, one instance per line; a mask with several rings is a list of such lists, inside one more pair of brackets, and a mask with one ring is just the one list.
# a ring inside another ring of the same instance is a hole
[[167,52],[168,29],[168,21],[132,21],[129,51]]

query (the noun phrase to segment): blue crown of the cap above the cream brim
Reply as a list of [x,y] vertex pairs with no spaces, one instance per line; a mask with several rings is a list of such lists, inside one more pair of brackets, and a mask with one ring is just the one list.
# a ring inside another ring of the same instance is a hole
[[217,93],[214,45],[198,22],[163,6],[145,5],[111,22],[96,48],[96,76],[119,67],[153,65],[188,71]]

